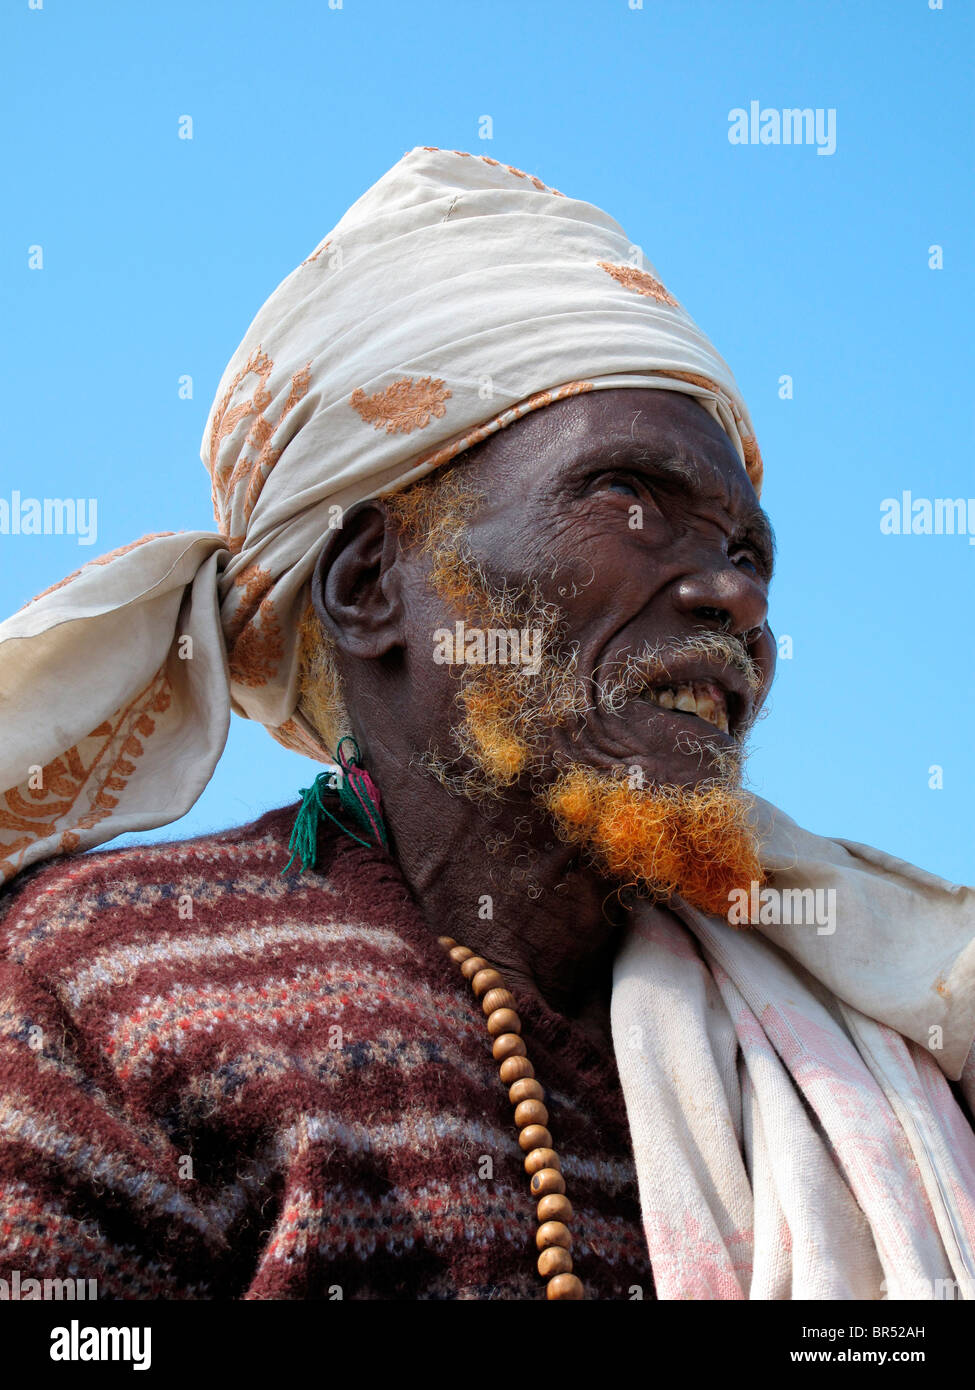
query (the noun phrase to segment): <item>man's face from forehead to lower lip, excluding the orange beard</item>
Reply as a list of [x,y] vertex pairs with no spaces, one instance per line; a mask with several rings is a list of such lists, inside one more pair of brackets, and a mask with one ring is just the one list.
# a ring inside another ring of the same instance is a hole
[[714,778],[775,666],[771,530],[719,425],[683,393],[597,391],[526,416],[458,473],[481,495],[466,542],[491,589],[535,581],[590,696],[554,723],[547,760]]

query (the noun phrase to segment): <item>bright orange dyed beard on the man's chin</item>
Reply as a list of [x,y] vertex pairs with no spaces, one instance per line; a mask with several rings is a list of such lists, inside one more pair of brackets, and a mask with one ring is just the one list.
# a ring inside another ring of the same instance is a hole
[[540,802],[559,835],[605,877],[723,917],[733,890],[764,880],[751,802],[730,771],[725,766],[722,776],[690,787],[641,785],[634,770],[623,776],[574,762]]

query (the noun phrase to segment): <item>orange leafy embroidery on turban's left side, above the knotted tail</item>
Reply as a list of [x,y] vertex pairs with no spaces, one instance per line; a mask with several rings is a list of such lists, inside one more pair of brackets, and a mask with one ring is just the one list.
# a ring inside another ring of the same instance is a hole
[[[281,457],[281,450],[273,448],[271,445],[274,431],[291,414],[298,402],[307,395],[307,389],[312,384],[312,363],[309,361],[305,367],[293,373],[291,378],[291,389],[288,391],[284,404],[281,406],[278,418],[268,420],[266,411],[271,403],[271,392],[267,388],[267,382],[273,370],[274,363],[267,353],[260,348],[255,349],[225,391],[223,400],[214,411],[213,423],[210,425],[213,514],[217,518],[217,525],[220,527],[221,534],[227,537],[229,537],[231,513],[241,482],[245,478],[248,480],[248,489],[241,506],[242,516],[239,517],[243,527],[246,527],[257,498],[260,496],[260,491],[267,481],[267,475]],[[231,407],[231,400],[234,399],[236,388],[252,374],[257,377],[257,388],[253,396],[249,400],[242,400],[239,404]],[[225,464],[220,466],[217,463],[217,456],[221,442],[228,438],[228,435],[234,434],[238,424],[249,416],[253,416],[253,423],[248,431],[246,439],[241,445],[236,461],[234,463],[232,460],[228,460]],[[249,453],[249,450],[255,450],[256,457],[253,453]],[[231,549],[234,546],[231,546]]]

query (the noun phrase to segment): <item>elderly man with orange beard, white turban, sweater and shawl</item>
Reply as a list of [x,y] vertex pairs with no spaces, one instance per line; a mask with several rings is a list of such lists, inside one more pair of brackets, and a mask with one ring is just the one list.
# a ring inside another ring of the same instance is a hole
[[[3,1277],[972,1297],[971,895],[743,790],[761,456],[622,228],[413,150],[203,456],[217,535],[0,627]],[[81,853],[231,709],[328,764],[300,808]]]

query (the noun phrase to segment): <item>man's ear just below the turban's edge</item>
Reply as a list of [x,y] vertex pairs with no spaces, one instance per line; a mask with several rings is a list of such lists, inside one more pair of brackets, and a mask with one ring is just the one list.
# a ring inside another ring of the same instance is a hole
[[350,507],[321,549],[312,602],[335,645],[350,656],[384,656],[402,644],[399,534],[377,498]]

